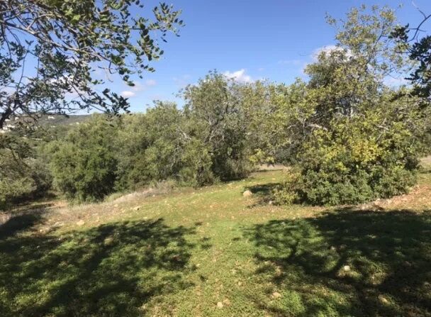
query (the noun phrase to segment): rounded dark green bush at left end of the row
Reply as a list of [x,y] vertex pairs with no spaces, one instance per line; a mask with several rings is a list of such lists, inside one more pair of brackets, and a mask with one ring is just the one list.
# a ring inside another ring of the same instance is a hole
[[50,144],[55,187],[68,199],[95,201],[114,190],[117,160],[113,147],[116,122],[95,115]]

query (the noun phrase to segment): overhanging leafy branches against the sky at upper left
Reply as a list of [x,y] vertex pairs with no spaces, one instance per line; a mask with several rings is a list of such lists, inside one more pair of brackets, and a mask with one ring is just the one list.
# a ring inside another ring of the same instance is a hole
[[98,72],[133,86],[130,76],[154,71],[163,54],[157,38],[183,25],[172,6],[152,9],[153,21],[142,8],[140,0],[0,1],[0,129],[14,115],[126,110]]

